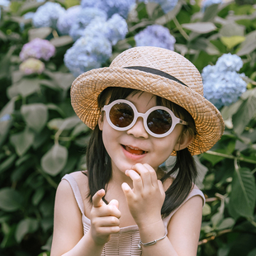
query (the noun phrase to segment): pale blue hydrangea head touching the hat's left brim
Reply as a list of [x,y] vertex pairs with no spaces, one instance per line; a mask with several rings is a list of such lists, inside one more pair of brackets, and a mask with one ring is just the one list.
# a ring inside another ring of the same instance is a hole
[[64,64],[74,77],[97,69],[111,57],[111,43],[105,36],[80,37],[64,55]]

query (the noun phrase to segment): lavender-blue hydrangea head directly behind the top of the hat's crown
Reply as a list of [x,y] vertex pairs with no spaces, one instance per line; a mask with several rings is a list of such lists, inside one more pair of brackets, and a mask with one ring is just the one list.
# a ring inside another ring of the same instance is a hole
[[168,28],[161,25],[147,26],[143,31],[135,35],[137,46],[157,46],[168,50],[174,50],[176,40],[170,34]]

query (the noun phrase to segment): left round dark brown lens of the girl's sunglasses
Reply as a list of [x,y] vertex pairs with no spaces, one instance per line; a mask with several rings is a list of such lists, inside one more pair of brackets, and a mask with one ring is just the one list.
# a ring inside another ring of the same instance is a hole
[[134,119],[134,112],[126,103],[116,103],[111,107],[109,117],[113,125],[122,128],[131,124]]

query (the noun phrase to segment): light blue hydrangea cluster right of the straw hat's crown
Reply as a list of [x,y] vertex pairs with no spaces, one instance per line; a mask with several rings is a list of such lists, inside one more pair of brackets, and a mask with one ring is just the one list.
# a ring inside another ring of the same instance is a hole
[[217,108],[229,106],[246,91],[244,73],[237,73],[243,61],[237,55],[222,55],[215,66],[206,66],[201,73],[204,96]]

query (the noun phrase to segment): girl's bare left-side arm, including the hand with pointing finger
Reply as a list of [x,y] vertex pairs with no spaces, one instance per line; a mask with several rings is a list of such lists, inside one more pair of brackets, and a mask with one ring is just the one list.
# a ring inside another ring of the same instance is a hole
[[[106,205],[104,190],[92,199],[92,227],[83,235],[82,215],[69,183],[62,181],[55,197],[55,223],[51,256],[97,256],[112,233],[119,231],[120,211],[116,201]],[[102,216],[103,215],[103,216]],[[116,217],[118,216],[118,217]],[[114,219],[114,220],[113,220]],[[116,226],[117,223],[117,226]]]

